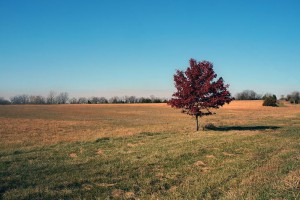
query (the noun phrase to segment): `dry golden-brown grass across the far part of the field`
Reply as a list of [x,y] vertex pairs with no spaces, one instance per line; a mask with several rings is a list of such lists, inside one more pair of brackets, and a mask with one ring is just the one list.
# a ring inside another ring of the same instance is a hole
[[[233,101],[204,117],[216,126],[300,124],[299,105],[263,107],[262,101]],[[259,124],[258,124],[259,123]],[[140,132],[193,132],[195,121],[166,104],[0,106],[1,145],[44,145]],[[226,132],[222,133],[226,134]]]

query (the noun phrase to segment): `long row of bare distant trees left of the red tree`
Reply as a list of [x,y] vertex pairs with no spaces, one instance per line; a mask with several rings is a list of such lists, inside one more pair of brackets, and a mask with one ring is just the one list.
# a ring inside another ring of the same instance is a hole
[[41,95],[16,95],[6,100],[0,97],[0,105],[8,104],[114,104],[114,103],[166,103],[167,99],[158,98],[153,95],[150,97],[135,97],[135,96],[124,96],[124,97],[111,97],[109,99],[105,97],[79,97],[69,98],[67,92],[61,92],[56,95],[55,92],[51,91],[47,97]]

